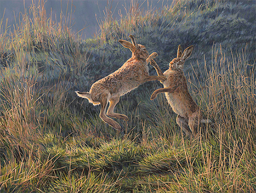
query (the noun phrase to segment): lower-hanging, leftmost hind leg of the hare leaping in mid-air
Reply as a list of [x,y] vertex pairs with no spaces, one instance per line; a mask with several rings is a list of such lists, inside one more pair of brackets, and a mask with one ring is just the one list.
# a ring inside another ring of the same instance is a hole
[[101,103],[101,113],[100,117],[105,122],[108,123],[111,127],[114,127],[117,130],[121,130],[121,126],[119,123],[111,119],[106,114],[107,105],[110,99],[110,93],[102,93],[100,97],[100,103]]

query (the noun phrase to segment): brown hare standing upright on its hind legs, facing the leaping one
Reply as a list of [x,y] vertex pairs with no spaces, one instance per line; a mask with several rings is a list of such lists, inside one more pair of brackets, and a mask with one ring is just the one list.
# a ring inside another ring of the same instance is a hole
[[150,100],[156,98],[159,93],[165,93],[169,105],[172,107],[174,113],[178,114],[176,122],[186,133],[191,136],[197,134],[199,123],[207,123],[208,120],[202,119],[200,108],[193,101],[189,94],[187,80],[184,76],[183,65],[184,61],[190,57],[193,46],[189,46],[182,53],[181,45],[178,47],[177,58],[174,58],[169,63],[169,69],[164,73],[154,60],[150,64],[155,67],[158,76],[165,76],[167,80],[161,83],[164,88],[159,88],[153,92]]

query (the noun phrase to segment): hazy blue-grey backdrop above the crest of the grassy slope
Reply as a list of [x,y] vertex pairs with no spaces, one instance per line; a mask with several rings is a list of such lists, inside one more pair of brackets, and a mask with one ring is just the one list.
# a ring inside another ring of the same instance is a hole
[[[13,31],[13,26],[18,23],[20,13],[27,11],[39,0],[0,0],[0,18],[3,23],[6,21],[9,29]],[[60,15],[69,19],[73,32],[83,38],[90,38],[99,33],[99,22],[104,20],[107,13],[111,13],[113,18],[125,17],[130,7],[134,6],[131,0],[45,0],[47,16],[51,16],[55,22],[60,21]],[[164,6],[171,6],[172,0],[137,0],[141,10],[162,9]],[[135,3],[135,2],[134,2]],[[135,3],[136,4],[136,3]],[[5,25],[4,25],[5,26]]]

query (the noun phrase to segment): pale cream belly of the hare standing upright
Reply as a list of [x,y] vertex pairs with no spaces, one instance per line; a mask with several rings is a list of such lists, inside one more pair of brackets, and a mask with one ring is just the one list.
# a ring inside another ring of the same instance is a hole
[[169,105],[172,107],[174,113],[179,114],[183,117],[187,116],[186,107],[183,105],[182,101],[178,96],[166,92],[165,97]]

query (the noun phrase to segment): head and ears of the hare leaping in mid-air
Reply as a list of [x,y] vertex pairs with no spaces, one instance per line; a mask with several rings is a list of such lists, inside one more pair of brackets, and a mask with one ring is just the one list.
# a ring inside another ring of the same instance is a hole
[[149,56],[149,53],[146,50],[146,47],[141,44],[137,44],[133,35],[129,35],[132,43],[126,40],[119,40],[119,43],[122,44],[125,48],[129,48],[132,52],[132,57],[137,58],[138,60],[146,60]]

